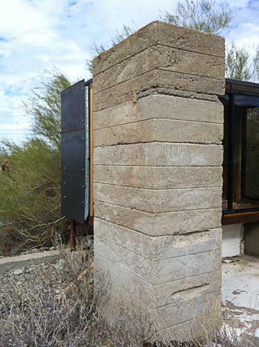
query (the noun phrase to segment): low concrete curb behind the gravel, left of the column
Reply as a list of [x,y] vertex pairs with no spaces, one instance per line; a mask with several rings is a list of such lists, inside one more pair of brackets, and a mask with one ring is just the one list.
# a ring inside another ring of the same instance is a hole
[[46,251],[32,254],[17,255],[16,257],[0,258],[0,273],[19,269],[31,264],[40,264],[42,262],[53,262],[59,257],[60,251]]

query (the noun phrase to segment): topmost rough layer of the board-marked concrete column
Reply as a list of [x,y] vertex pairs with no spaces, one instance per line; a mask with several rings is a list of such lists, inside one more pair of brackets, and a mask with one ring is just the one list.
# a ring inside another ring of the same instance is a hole
[[225,56],[223,37],[156,21],[140,28],[126,40],[95,58],[93,61],[94,74],[106,71],[113,65],[156,44],[203,53],[208,56],[221,58]]

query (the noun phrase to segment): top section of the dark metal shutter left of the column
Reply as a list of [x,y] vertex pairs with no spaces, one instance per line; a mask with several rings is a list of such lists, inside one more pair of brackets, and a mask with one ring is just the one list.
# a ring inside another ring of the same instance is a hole
[[85,80],[61,92],[61,132],[83,128],[85,128]]

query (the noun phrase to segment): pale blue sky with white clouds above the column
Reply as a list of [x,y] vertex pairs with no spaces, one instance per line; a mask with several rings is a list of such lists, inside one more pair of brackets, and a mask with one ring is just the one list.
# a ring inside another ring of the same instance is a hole
[[[23,102],[55,66],[72,81],[87,80],[91,46],[110,46],[122,26],[138,29],[174,12],[178,0],[0,0],[0,139],[20,142],[30,133]],[[235,15],[220,35],[253,56],[259,44],[259,0],[215,0]]]

